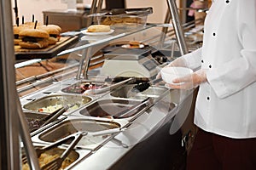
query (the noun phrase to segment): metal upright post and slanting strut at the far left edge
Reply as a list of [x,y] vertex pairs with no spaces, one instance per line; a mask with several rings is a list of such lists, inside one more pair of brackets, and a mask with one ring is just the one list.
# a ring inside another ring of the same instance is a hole
[[[10,1],[0,2],[0,33],[1,33],[1,120],[0,124],[0,169],[20,169],[20,141],[25,146],[26,153],[30,154],[29,162],[32,169],[38,169],[38,160],[33,149],[30,134],[26,131],[27,125],[20,106],[20,100],[15,88],[15,52],[13,42],[12,13]],[[17,115],[18,114],[18,115]],[[28,128],[27,128],[28,129]]]

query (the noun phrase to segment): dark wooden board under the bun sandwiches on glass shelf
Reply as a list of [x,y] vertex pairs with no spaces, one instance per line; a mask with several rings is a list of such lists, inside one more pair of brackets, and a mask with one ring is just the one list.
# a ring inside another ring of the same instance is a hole
[[16,59],[50,59],[73,45],[73,43],[78,42],[78,40],[78,36],[61,37],[60,41],[56,42],[55,45],[49,45],[48,48],[42,49],[26,49],[15,45],[15,57]]

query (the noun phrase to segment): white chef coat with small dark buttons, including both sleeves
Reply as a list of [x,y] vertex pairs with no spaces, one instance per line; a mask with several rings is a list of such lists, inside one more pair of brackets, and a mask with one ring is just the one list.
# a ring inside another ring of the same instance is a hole
[[235,139],[256,137],[256,0],[214,0],[202,48],[183,56],[201,66],[195,124]]

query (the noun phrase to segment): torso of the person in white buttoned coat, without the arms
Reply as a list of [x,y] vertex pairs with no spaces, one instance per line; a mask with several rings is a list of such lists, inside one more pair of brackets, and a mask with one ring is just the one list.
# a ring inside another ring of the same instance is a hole
[[[238,1],[214,0],[212,3],[205,21],[202,69],[213,69],[242,57],[237,31],[239,23],[236,20]],[[256,83],[252,87],[256,89]],[[196,101],[195,124],[212,133],[232,138],[256,137],[256,113],[252,114],[253,108],[256,109],[256,106],[252,106],[256,90],[252,91],[252,87],[219,99],[209,83],[202,84]]]

